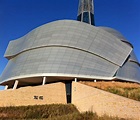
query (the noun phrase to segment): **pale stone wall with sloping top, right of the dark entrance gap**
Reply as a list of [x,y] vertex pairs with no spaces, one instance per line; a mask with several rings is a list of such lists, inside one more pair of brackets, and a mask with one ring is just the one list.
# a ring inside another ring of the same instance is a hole
[[80,111],[98,115],[118,116],[140,120],[140,102],[124,98],[78,82],[72,83],[72,103]]

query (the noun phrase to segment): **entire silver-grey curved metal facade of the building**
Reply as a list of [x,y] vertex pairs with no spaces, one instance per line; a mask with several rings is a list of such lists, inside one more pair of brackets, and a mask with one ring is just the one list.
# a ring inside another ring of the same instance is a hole
[[[112,32],[73,20],[38,27],[9,43],[5,53],[9,62],[0,82],[35,76],[118,77],[140,82],[140,76],[134,76],[140,71],[133,48]],[[137,63],[128,61],[129,57]]]

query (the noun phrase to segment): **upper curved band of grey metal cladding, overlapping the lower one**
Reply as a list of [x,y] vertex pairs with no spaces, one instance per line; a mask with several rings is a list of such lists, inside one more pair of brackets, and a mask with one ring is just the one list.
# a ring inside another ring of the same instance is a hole
[[46,46],[75,47],[118,66],[124,63],[132,50],[117,37],[98,27],[73,20],[61,20],[38,27],[20,40],[12,41],[5,57],[10,58],[23,51]]

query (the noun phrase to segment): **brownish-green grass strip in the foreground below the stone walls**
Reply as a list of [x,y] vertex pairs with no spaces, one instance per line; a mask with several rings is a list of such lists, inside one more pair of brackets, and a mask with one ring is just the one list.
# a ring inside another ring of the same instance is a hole
[[80,113],[72,104],[0,107],[0,120],[128,120],[93,112]]

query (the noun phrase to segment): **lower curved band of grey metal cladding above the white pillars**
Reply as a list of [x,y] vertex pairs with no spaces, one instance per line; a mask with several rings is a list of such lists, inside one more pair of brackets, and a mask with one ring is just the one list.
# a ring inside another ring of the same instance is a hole
[[12,58],[1,82],[24,75],[58,73],[112,77],[119,67],[94,54],[67,47],[43,47]]

